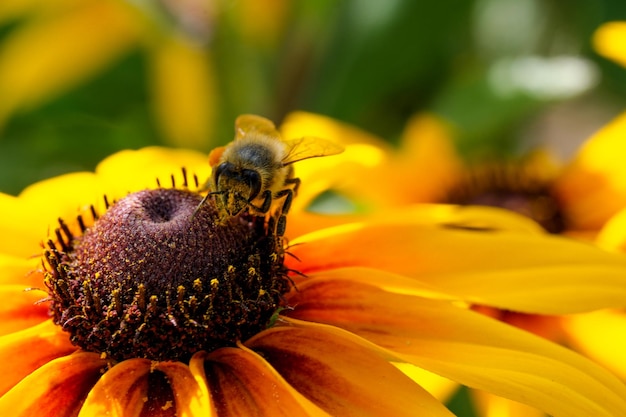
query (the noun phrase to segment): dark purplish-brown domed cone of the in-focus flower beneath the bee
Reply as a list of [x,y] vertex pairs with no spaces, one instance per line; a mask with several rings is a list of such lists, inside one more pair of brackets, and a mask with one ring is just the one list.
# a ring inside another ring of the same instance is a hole
[[77,346],[115,360],[188,360],[263,330],[289,290],[282,241],[176,189],[130,194],[46,247],[51,311]]

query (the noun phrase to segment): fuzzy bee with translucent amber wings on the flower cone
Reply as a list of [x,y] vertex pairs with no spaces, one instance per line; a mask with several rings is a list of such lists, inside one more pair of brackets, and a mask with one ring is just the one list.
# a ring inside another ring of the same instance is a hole
[[276,215],[276,234],[282,236],[286,215],[300,186],[293,164],[341,152],[341,145],[321,138],[284,140],[271,120],[241,115],[235,121],[235,139],[209,154],[211,177],[199,189],[209,192],[196,212],[207,198],[214,196],[225,217],[246,210],[256,216]]

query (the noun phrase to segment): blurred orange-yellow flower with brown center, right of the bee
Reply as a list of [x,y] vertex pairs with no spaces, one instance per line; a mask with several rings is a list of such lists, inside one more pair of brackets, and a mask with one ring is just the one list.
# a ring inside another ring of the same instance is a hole
[[[626,172],[618,157],[624,148],[626,114],[590,137],[564,166],[543,153],[518,162],[467,165],[454,148],[452,126],[430,114],[408,121],[398,151],[357,128],[315,114],[295,112],[283,124],[287,136],[302,135],[305,129],[377,148],[381,163],[362,166],[358,180],[344,179],[340,170],[327,179],[338,192],[365,206],[426,202],[503,207],[528,215],[549,231],[586,238],[626,206]],[[316,177],[316,169],[311,165],[307,175]]]

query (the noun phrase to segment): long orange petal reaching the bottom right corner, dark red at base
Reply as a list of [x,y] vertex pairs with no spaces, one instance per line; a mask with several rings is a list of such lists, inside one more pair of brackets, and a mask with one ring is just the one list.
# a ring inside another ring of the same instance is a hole
[[310,280],[290,303],[292,326],[334,326],[325,328],[548,414],[626,415],[626,387],[604,368],[471,310],[338,280]]

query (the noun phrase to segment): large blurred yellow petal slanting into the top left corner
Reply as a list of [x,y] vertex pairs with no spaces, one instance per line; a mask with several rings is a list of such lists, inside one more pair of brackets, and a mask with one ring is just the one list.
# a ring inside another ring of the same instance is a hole
[[15,30],[0,49],[0,122],[110,65],[136,41],[137,27],[126,5],[101,0]]

